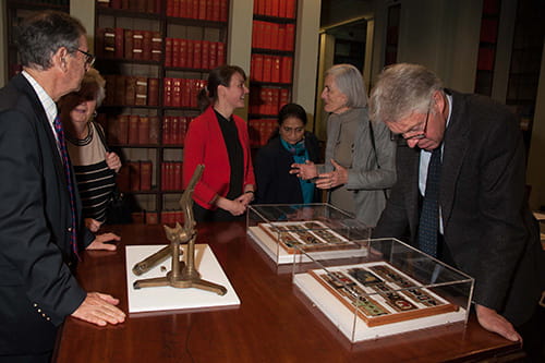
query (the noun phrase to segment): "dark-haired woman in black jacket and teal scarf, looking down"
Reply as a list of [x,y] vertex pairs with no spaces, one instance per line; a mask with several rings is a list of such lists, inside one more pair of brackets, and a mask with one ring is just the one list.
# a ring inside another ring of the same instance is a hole
[[301,204],[318,202],[318,190],[310,180],[290,174],[291,165],[318,162],[318,140],[305,131],[306,111],[288,104],[278,114],[278,132],[259,149],[255,164],[256,203]]

